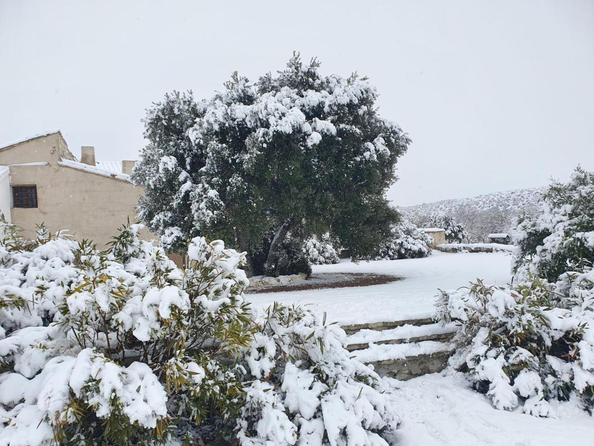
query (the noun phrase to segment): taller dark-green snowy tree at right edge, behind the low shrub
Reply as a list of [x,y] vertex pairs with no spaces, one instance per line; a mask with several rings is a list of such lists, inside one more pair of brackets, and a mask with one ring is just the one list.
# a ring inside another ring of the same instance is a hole
[[520,218],[514,269],[555,281],[567,269],[594,262],[594,173],[578,167],[568,183],[555,181],[535,217]]

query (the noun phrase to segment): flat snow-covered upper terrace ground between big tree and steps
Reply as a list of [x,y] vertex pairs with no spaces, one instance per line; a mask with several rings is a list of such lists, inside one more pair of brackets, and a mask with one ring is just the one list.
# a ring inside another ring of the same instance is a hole
[[372,272],[403,279],[369,287],[330,288],[326,290],[284,291],[248,294],[254,309],[274,301],[301,304],[327,313],[328,321],[342,324],[399,321],[432,316],[438,288],[452,289],[476,278],[485,283],[504,285],[510,279],[511,259],[507,253],[441,253],[424,259],[342,260],[336,265],[315,265],[314,272]]

